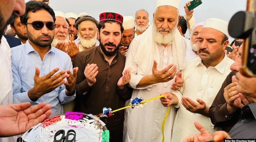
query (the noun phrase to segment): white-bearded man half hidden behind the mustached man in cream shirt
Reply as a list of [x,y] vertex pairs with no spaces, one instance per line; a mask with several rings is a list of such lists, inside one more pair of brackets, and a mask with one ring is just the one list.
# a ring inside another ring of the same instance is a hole
[[198,53],[197,53],[197,43],[198,43],[198,37],[202,31],[204,22],[199,22],[196,25],[193,26],[192,29],[192,35],[191,35],[191,39],[190,39],[190,44],[191,44],[191,48],[192,49],[188,49],[186,51],[186,61],[190,61],[193,60],[195,58],[198,58]]

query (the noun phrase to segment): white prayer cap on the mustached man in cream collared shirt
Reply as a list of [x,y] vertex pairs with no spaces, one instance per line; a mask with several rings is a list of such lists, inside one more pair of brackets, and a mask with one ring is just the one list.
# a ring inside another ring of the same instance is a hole
[[225,34],[227,37],[228,34],[228,22],[218,18],[209,18],[204,21],[203,28],[213,28]]

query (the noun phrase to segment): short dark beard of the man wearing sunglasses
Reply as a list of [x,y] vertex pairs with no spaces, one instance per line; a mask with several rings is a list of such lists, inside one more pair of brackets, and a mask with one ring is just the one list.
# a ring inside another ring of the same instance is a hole
[[[35,43],[36,45],[41,46],[41,47],[47,47],[47,46],[51,45],[51,43],[53,41],[53,37],[51,37],[50,35],[41,35],[41,36],[39,36],[37,38],[34,38],[32,36],[32,34],[28,31],[28,28],[27,28],[27,35],[28,35],[28,39],[30,41],[32,41],[33,43]],[[39,39],[40,37],[49,37],[50,40],[42,41],[42,40]]]

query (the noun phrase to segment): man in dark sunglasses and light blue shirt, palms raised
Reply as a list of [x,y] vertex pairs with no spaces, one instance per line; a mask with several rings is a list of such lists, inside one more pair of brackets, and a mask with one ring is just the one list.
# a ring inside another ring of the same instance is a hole
[[45,3],[29,1],[20,20],[28,42],[12,49],[13,102],[50,103],[51,116],[61,114],[62,104],[76,97],[77,68],[65,52],[51,46],[54,12]]

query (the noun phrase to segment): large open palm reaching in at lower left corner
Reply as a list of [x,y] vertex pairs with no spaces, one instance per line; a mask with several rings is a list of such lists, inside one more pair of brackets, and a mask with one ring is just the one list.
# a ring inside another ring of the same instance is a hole
[[0,137],[9,137],[28,131],[48,118],[51,105],[40,103],[30,107],[29,102],[0,106]]

